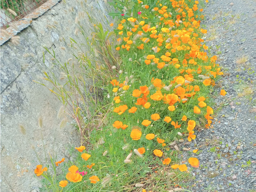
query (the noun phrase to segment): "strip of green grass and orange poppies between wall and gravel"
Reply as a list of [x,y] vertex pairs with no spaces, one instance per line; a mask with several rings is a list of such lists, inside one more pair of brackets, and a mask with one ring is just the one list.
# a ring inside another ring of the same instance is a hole
[[[77,52],[62,64],[46,49],[62,74],[57,78],[49,70],[44,79],[81,133],[74,162],[56,160],[55,166],[51,158],[54,176],[39,170],[46,188],[163,192],[185,188],[190,167],[199,166],[197,158],[178,158],[182,152],[176,140],[192,141],[195,128],[211,126],[209,93],[223,73],[217,57],[204,52],[207,30],[197,20],[190,23],[199,13],[197,4],[186,1],[183,6],[191,9],[182,20],[180,8],[170,1],[161,2],[164,6],[141,3],[110,3],[120,18],[113,31],[104,31],[88,14],[94,30],[86,39],[90,54]],[[80,32],[86,36],[82,26]],[[81,48],[74,39],[70,42],[69,48]],[[87,86],[86,78],[93,86]],[[57,164],[61,175],[56,175]]]

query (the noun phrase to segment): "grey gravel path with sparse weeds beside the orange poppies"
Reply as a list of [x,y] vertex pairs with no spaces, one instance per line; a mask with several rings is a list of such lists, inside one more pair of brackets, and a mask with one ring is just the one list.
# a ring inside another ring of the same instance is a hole
[[209,0],[203,14],[206,45],[224,75],[212,92],[213,128],[196,134],[200,167],[191,190],[256,192],[256,1]]

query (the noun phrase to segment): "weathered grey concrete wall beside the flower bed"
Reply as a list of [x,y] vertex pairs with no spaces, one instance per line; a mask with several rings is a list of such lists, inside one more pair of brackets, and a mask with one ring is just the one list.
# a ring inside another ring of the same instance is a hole
[[[83,2],[83,6],[81,5]],[[91,16],[108,27],[106,17],[110,6],[103,0],[61,1],[50,10],[33,20],[27,28],[18,33],[20,44],[10,40],[1,45],[1,191],[36,192],[40,180],[34,169],[40,164],[34,150],[44,162],[43,144],[46,154],[54,154],[57,160],[72,160],[68,148],[80,145],[80,136],[72,125],[60,128],[61,119],[57,118],[60,101],[50,91],[36,84],[43,82],[42,47],[53,48],[62,63],[72,55],[61,50],[67,47],[60,38],[74,38],[78,43],[85,43],[82,34],[74,34],[78,24],[75,18],[78,12],[92,11]],[[86,29],[91,28],[87,14],[80,19]],[[56,26],[49,27],[49,26]],[[90,31],[88,30],[88,36]],[[2,40],[2,38],[1,38]],[[90,51],[89,49],[84,52]],[[28,56],[29,55],[29,56]],[[46,62],[51,60],[46,53]],[[44,83],[46,83],[44,81]],[[43,127],[38,126],[38,117],[43,119]],[[19,125],[24,126],[26,135],[22,135]],[[41,135],[42,134],[42,135]],[[42,140],[43,137],[43,140]]]

